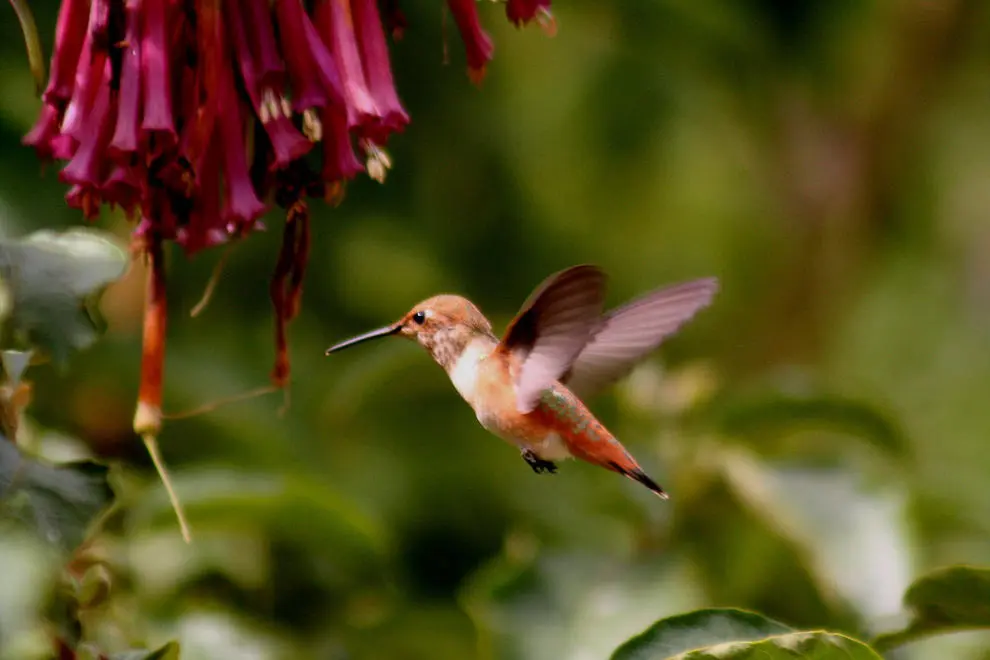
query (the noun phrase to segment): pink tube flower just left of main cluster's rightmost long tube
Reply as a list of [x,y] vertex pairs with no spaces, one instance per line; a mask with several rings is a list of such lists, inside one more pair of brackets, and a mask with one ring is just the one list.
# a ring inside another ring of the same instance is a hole
[[348,0],[317,0],[314,20],[340,71],[347,102],[347,126],[372,125],[381,114],[364,79]]

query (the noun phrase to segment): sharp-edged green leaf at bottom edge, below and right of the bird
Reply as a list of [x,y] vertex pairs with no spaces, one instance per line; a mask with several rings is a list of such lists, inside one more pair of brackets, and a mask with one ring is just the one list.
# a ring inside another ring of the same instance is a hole
[[868,660],[870,647],[843,635],[794,632],[782,623],[736,609],[709,609],[662,619],[616,649],[612,660]]

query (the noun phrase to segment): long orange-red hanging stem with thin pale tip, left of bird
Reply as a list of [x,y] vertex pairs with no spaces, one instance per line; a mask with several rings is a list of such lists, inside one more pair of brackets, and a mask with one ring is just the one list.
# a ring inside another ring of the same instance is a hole
[[141,353],[141,384],[138,389],[134,432],[141,436],[158,476],[165,486],[172,509],[179,521],[182,538],[192,541],[189,523],[182,510],[172,480],[165,469],[158,448],[158,433],[162,428],[162,381],[165,373],[165,328],[167,299],[165,295],[165,263],[160,236],[149,236],[145,245],[148,259],[148,283],[144,302],[144,334]]

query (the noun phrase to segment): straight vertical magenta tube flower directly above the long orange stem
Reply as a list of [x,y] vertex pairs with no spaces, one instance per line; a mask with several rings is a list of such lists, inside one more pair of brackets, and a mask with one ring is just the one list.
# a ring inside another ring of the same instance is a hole
[[144,117],[141,128],[175,140],[172,116],[172,86],[168,58],[167,0],[143,0],[144,34],[141,40],[141,83]]

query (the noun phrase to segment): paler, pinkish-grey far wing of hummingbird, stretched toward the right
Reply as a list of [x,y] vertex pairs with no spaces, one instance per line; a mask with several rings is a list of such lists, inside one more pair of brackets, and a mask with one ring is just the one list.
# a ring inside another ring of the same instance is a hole
[[659,289],[611,310],[592,331],[561,382],[586,397],[625,376],[718,291],[718,280],[706,278]]

